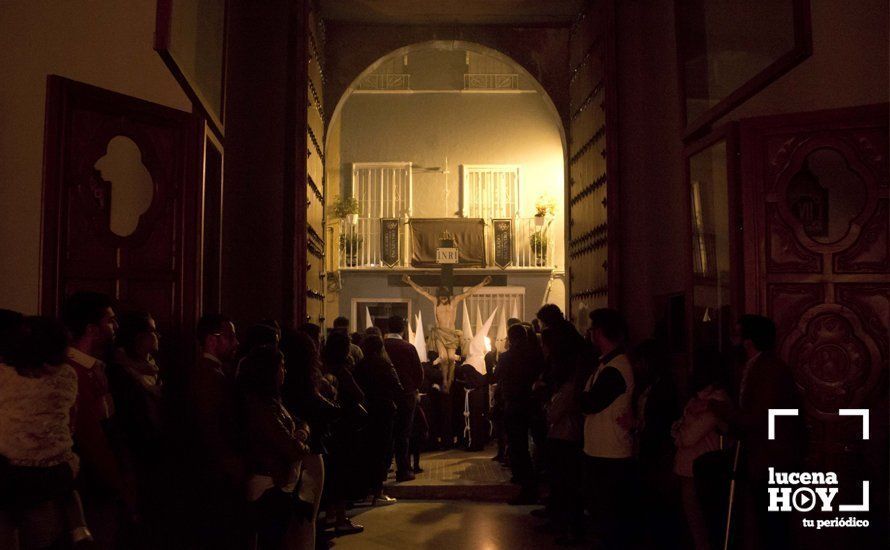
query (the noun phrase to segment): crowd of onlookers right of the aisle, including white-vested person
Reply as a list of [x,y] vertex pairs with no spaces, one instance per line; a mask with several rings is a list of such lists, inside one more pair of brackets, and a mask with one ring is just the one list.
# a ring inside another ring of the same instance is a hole
[[767,465],[799,466],[804,429],[767,438],[768,409],[800,406],[771,320],[742,315],[731,352],[702,353],[685,405],[668,354],[653,339],[630,346],[617,311],[590,312],[584,335],[555,305],[535,321],[508,321],[488,379],[514,503],[537,502],[547,480],[540,529],[594,548],[790,546],[787,516],[767,513]]

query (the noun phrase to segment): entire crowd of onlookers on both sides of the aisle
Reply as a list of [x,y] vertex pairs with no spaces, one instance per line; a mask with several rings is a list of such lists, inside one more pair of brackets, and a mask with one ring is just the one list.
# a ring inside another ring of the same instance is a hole
[[[324,547],[363,531],[350,507],[395,502],[390,470],[414,479],[425,439],[460,439],[398,316],[350,335],[342,317],[323,330],[205,315],[193,364],[172,368],[152,316],[115,308],[78,292],[58,320],[0,310],[2,548]],[[583,335],[554,305],[508,325],[504,351],[484,374],[459,366],[452,393],[468,390],[468,411],[482,396],[486,422],[464,435],[478,448],[490,432],[512,503],[544,496],[533,515],[556,543],[719,548],[735,468],[746,547],[782,547],[765,464],[793,470],[801,445],[767,441],[766,410],[796,395],[768,319],[739,320],[738,380],[722,356],[697,361],[685,406],[667,355],[629,347],[615,310]]]

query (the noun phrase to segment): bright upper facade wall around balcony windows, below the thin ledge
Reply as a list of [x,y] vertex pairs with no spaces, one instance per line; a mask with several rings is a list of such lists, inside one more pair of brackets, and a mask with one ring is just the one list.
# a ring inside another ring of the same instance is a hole
[[557,121],[537,93],[353,94],[342,109],[341,174],[351,185],[353,162],[410,161],[450,174],[414,172],[414,215],[454,216],[461,164],[521,165],[520,216],[535,199],[556,199],[557,265],[564,265],[563,149]]

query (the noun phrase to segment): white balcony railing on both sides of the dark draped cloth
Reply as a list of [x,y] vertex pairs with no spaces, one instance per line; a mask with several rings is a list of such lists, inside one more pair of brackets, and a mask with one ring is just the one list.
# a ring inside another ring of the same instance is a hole
[[[547,269],[554,267],[554,228],[550,220],[514,218],[513,262],[511,269]],[[380,219],[359,218],[355,224],[341,223],[338,230],[340,269],[405,269],[411,267],[409,225],[399,224],[399,257],[393,266],[383,263],[380,250]],[[485,227],[485,268],[493,269],[494,238],[491,224]]]

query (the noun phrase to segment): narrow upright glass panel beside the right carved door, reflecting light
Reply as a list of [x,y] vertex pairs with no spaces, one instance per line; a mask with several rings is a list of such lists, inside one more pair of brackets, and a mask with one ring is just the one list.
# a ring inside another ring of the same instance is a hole
[[693,364],[729,351],[742,307],[742,222],[737,126],[729,124],[683,152],[691,258],[686,319]]

